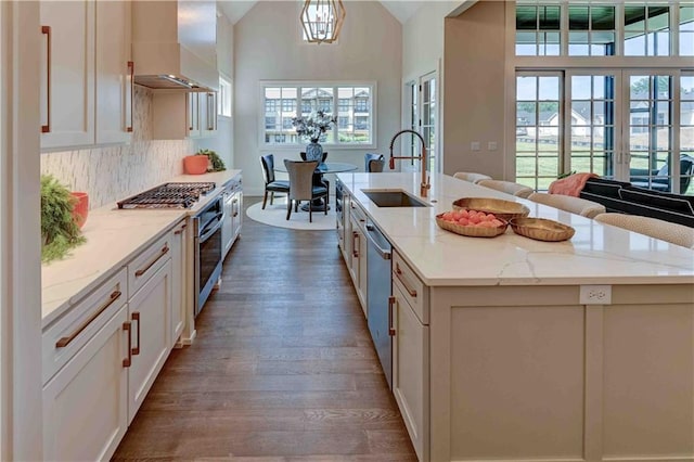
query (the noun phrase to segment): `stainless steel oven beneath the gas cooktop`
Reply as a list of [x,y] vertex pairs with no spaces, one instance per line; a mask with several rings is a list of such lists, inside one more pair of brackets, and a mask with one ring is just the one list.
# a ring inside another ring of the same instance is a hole
[[197,316],[221,275],[222,240],[224,220],[223,200],[215,198],[193,219],[195,242],[195,310]]

